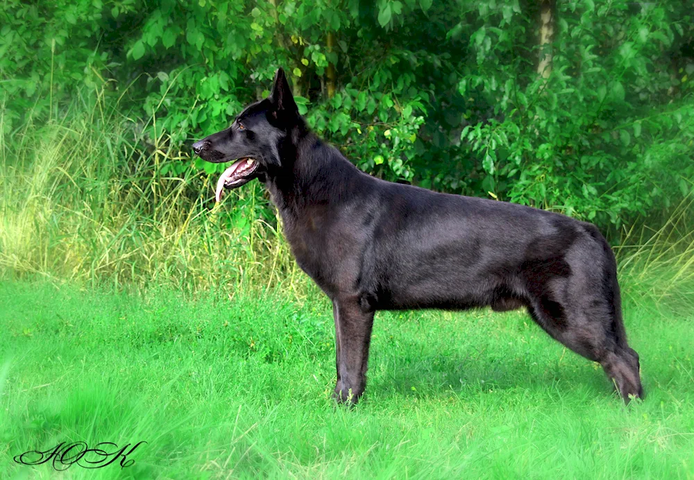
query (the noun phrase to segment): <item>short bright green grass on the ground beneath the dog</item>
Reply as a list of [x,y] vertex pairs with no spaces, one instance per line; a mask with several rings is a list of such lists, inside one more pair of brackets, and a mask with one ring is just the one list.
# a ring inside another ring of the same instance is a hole
[[[377,315],[350,410],[330,400],[319,295],[3,282],[0,298],[2,478],[694,477],[694,314],[650,300],[625,305],[643,402],[525,314],[418,311]],[[122,470],[12,462],[63,440],[148,444]]]

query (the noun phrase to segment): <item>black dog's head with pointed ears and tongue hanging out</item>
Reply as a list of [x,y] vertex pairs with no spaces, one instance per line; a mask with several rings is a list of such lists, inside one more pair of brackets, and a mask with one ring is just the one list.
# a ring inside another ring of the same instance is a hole
[[285,71],[278,69],[267,98],[248,106],[226,130],[193,144],[193,151],[203,160],[234,162],[217,181],[217,201],[224,189],[241,187],[280,168],[282,142],[298,123],[301,116]]

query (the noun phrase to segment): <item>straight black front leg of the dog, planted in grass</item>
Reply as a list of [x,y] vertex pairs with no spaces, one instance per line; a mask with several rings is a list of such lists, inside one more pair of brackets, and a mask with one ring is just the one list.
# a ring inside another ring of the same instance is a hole
[[337,360],[335,400],[357,403],[366,387],[373,311],[363,311],[358,298],[348,297],[333,300],[332,313]]

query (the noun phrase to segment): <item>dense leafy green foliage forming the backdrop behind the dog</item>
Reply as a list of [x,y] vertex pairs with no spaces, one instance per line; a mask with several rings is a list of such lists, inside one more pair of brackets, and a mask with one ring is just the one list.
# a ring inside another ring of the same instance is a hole
[[179,148],[225,128],[282,66],[310,125],[382,178],[602,226],[692,189],[684,3],[557,2],[543,46],[539,7],[518,0],[9,0],[0,24],[5,135],[105,81],[155,119],[144,142]]

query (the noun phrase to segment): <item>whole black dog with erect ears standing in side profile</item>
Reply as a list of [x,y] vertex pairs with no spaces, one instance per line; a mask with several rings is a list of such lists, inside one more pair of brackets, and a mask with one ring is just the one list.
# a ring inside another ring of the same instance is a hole
[[364,392],[376,310],[486,305],[526,307],[553,338],[599,361],[625,402],[643,395],[614,255],[594,225],[362,173],[310,132],[282,69],[268,98],[193,149],[208,162],[236,160],[217,200],[265,183],[296,262],[332,300],[338,401]]

